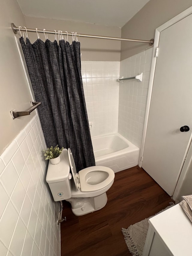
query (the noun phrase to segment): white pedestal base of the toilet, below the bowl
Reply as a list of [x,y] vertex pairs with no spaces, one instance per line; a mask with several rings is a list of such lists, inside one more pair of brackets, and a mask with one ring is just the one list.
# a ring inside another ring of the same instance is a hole
[[103,208],[107,203],[107,194],[104,193],[97,197],[71,197],[66,201],[70,202],[72,212],[76,216],[81,216]]

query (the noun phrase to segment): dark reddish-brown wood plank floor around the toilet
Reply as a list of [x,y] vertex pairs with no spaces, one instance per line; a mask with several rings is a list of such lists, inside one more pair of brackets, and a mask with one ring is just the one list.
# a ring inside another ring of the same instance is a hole
[[61,223],[61,256],[131,255],[122,234],[122,227],[166,208],[171,197],[140,167],[115,173],[115,181],[107,191],[107,205],[83,216],[71,212],[64,201]]

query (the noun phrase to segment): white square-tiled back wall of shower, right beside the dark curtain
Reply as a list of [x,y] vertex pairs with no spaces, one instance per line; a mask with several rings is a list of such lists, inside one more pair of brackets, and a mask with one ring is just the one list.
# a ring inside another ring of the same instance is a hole
[[82,61],[82,80],[91,137],[117,132],[119,64],[110,61]]

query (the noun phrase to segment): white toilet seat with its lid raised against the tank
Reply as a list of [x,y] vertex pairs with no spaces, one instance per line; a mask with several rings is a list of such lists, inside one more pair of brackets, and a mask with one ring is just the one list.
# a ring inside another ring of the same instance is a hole
[[[79,171],[79,173],[77,173],[75,162],[70,148],[68,148],[68,157],[73,180],[77,191],[79,191],[79,189],[82,192],[93,192],[101,190],[108,186],[115,178],[115,173],[113,172],[113,170],[105,166],[91,166],[82,169]],[[93,182],[90,182],[92,184],[88,183],[89,179],[91,178],[92,180],[94,180],[94,178],[97,179],[97,184],[93,184]],[[99,179],[101,179],[101,182],[99,181]]]

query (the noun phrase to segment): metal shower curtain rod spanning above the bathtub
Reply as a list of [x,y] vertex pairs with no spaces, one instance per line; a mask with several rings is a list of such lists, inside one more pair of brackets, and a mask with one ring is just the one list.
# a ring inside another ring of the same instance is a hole
[[[11,28],[13,29],[14,34],[17,34],[17,31],[26,31],[27,32],[38,32],[38,33],[44,33],[43,30],[41,29],[27,29],[27,28],[23,28],[23,27],[16,27],[14,23],[11,23]],[[55,31],[51,31],[51,30],[45,30],[46,34],[54,34],[55,35]],[[62,35],[67,35],[67,33],[60,33]],[[68,33],[68,35],[73,35],[72,33]],[[99,35],[86,35],[86,34],[77,34],[77,36],[80,37],[89,37],[89,38],[102,38],[102,39],[111,39],[111,40],[122,40],[122,41],[131,41],[131,42],[136,42],[136,43],[149,43],[149,45],[153,45],[154,43],[154,39],[151,40],[139,40],[139,39],[128,39],[128,38],[118,38],[118,37],[107,37],[107,36],[99,36]]]

